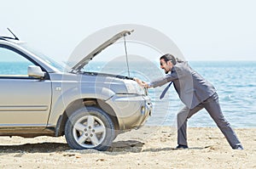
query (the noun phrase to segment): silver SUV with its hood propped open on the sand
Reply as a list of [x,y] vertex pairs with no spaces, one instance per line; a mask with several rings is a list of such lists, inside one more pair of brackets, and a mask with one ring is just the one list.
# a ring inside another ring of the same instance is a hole
[[106,150],[120,133],[141,127],[152,104],[127,76],[84,72],[84,65],[119,38],[91,51],[71,70],[17,37],[0,37],[0,135],[65,135],[72,149]]

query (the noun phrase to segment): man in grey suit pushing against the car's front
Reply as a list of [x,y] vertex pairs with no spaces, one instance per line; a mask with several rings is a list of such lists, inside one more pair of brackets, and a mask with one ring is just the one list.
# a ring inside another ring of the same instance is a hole
[[160,87],[167,82],[170,82],[170,87],[173,82],[179,98],[185,104],[177,113],[177,149],[188,149],[187,120],[203,108],[211,115],[232,149],[243,149],[230,123],[224,118],[218,104],[218,94],[210,82],[193,70],[188,62],[178,61],[172,54],[160,57],[160,68],[165,70],[166,76],[153,82],[142,82],[137,78],[134,80],[143,87]]

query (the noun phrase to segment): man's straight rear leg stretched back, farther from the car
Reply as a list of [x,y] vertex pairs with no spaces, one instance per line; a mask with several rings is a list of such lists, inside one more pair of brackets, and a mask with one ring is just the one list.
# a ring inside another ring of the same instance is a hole
[[225,138],[227,138],[232,149],[236,149],[237,145],[241,145],[239,139],[236,136],[236,133],[230,127],[229,121],[226,121],[224,115],[218,104],[218,94],[214,94],[211,98],[207,99],[202,103],[208,113],[212,116],[212,119],[217,124],[221,132],[224,133]]

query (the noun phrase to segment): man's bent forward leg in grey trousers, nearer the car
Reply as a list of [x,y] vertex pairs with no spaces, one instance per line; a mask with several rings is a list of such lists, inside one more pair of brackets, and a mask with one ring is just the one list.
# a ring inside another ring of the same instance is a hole
[[178,145],[188,145],[187,143],[187,121],[194,115],[197,111],[201,110],[203,107],[200,105],[196,106],[194,109],[189,110],[187,106],[183,107],[177,113],[177,144]]

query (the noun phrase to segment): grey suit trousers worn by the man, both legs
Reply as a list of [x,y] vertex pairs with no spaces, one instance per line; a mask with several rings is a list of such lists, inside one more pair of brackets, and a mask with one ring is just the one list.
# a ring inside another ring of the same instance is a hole
[[218,103],[218,94],[214,93],[210,98],[203,101],[193,109],[185,106],[177,114],[177,144],[188,145],[187,143],[187,121],[196,112],[205,108],[218,128],[223,132],[230,146],[234,149],[236,145],[240,145],[240,141],[236,133],[230,127],[230,123],[226,121]]

